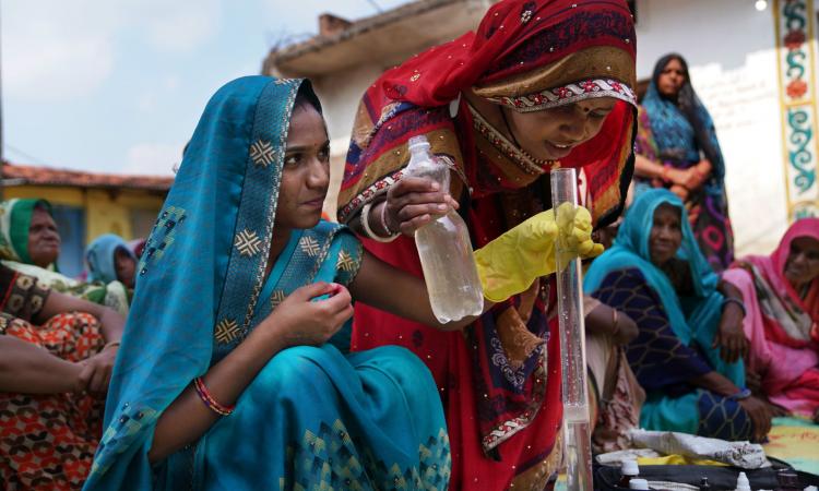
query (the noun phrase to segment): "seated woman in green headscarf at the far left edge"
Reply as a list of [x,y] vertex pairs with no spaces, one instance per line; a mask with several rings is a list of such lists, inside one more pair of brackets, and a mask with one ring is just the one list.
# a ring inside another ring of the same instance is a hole
[[46,200],[0,202],[0,260],[5,266],[34,276],[61,294],[110,307],[128,314],[128,292],[119,282],[108,285],[69,278],[57,270],[60,232]]

